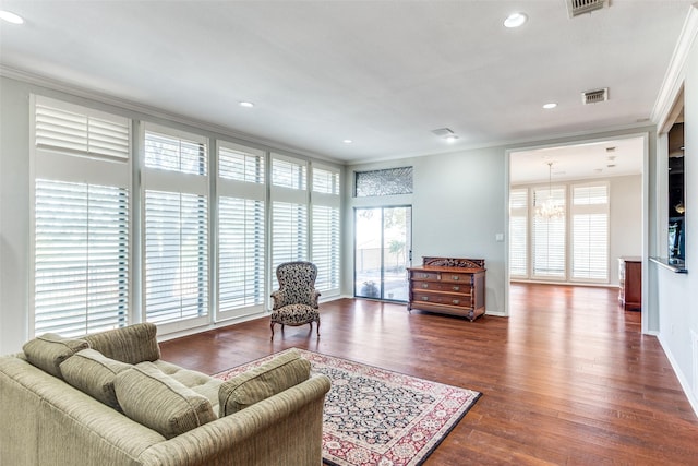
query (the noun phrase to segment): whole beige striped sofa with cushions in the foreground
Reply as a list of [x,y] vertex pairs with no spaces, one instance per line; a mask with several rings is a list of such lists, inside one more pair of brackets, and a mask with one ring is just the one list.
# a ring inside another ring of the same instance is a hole
[[46,335],[0,357],[0,465],[322,463],[329,380],[305,359],[221,382],[160,360],[155,333]]

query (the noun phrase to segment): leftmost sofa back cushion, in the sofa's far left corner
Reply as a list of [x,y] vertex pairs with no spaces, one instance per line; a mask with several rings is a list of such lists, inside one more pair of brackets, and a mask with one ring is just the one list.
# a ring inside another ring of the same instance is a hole
[[25,343],[22,350],[32,366],[62,378],[61,362],[86,348],[89,348],[89,344],[84,339],[64,338],[55,333],[47,333]]

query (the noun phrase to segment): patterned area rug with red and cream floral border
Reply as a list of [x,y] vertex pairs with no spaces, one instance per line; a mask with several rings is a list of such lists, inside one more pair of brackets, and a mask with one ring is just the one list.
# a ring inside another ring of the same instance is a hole
[[[332,380],[323,423],[323,458],[329,465],[420,465],[481,395],[347,359],[297,350],[311,361],[311,371]],[[281,353],[216,377],[227,380]]]

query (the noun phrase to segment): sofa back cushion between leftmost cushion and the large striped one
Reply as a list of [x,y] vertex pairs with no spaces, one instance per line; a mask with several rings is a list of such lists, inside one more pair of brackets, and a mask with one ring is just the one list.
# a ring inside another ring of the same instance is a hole
[[105,405],[121,410],[113,391],[113,380],[119,372],[131,367],[94,349],[83,349],[61,362],[60,369],[65,382]]

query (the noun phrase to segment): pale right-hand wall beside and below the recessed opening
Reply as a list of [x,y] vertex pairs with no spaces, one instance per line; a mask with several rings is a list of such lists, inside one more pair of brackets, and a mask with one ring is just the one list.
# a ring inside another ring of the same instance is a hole
[[[691,13],[693,34],[684,75],[684,180],[686,199],[686,268],[676,274],[651,263],[657,277],[659,338],[669,356],[684,391],[698,413],[698,5]],[[667,83],[671,85],[671,83]],[[658,176],[665,174],[658,172]],[[693,207],[693,208],[691,208]],[[660,251],[659,255],[666,255]]]

